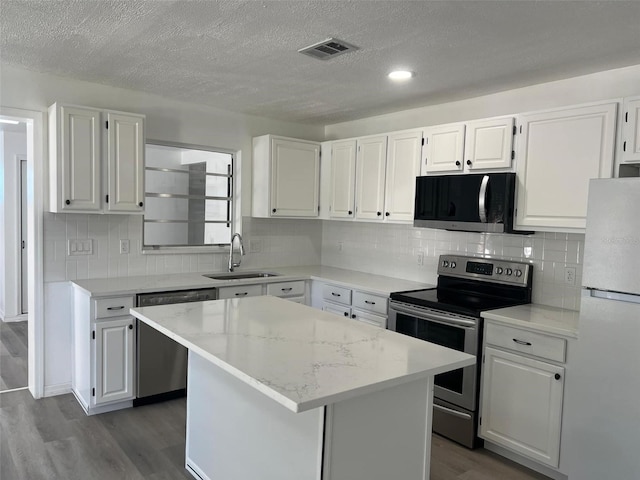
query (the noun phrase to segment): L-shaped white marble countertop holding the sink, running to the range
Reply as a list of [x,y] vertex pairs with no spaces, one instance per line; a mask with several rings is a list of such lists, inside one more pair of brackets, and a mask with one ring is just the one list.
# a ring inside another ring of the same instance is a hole
[[[428,283],[413,282],[400,278],[372,275],[354,270],[325,267],[321,265],[265,268],[260,270],[251,269],[251,271],[265,271],[277,273],[278,275],[275,277],[261,277],[242,280],[214,280],[203,276],[207,272],[179,273],[169,275],[144,275],[135,277],[74,280],[72,284],[92,297],[134,295],[136,293],[223,287],[229,285],[250,285],[256,283],[287,282],[294,280],[321,280],[384,296],[389,295],[391,292],[433,287],[432,284]],[[236,272],[242,273],[243,270],[239,269],[236,270]]]

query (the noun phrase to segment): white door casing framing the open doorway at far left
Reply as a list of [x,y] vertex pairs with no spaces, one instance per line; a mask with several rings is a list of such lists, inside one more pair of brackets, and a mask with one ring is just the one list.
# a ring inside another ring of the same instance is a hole
[[45,112],[0,106],[0,115],[27,123],[27,175],[32,195],[28,199],[29,264],[29,391],[34,398],[44,392],[44,198],[47,174]]

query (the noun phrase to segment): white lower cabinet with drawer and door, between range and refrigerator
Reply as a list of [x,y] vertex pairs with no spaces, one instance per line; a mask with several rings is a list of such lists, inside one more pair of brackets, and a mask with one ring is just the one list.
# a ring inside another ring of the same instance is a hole
[[[482,438],[558,468],[564,348],[563,339],[487,323],[479,428]],[[562,362],[536,358],[539,352],[562,358]]]

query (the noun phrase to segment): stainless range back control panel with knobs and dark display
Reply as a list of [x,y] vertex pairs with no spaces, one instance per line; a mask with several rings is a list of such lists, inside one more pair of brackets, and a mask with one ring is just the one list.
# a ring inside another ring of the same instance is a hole
[[522,286],[529,284],[531,269],[528,263],[462,255],[440,255],[438,263],[438,275]]

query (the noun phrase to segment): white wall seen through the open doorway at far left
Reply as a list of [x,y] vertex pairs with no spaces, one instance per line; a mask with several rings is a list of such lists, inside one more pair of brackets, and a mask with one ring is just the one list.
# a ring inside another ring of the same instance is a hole
[[27,134],[0,132],[2,144],[2,200],[0,202],[0,314],[3,319],[21,315],[20,257],[20,165],[18,155],[27,157]]

